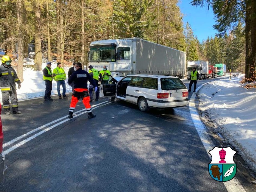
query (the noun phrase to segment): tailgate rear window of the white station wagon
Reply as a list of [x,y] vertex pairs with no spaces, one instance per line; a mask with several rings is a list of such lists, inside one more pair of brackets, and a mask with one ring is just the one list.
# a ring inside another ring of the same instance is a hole
[[178,78],[161,78],[162,90],[186,89],[187,87]]

